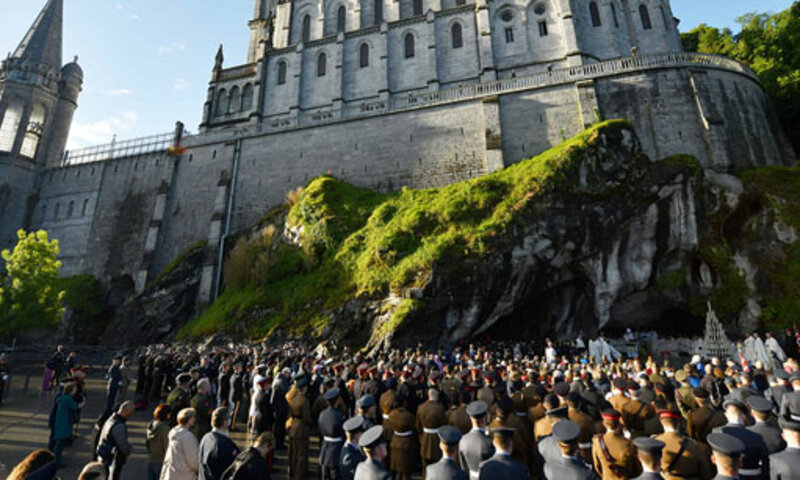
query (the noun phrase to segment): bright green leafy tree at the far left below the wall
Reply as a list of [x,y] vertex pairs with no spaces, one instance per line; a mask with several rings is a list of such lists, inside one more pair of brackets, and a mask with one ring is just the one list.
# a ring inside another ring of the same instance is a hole
[[19,335],[58,325],[64,292],[59,286],[58,240],[47,232],[17,232],[14,251],[3,250],[6,276],[0,278],[0,333]]

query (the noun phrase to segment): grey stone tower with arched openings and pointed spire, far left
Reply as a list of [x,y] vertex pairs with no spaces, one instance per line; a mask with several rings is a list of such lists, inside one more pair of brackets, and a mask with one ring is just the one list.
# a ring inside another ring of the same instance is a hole
[[75,61],[62,67],[63,0],[49,0],[0,66],[0,249],[28,228],[45,168],[67,143],[83,85]]

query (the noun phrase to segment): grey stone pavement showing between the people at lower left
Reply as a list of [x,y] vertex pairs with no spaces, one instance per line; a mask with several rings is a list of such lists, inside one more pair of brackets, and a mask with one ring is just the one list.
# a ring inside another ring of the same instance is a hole
[[[11,379],[11,390],[0,407],[0,463],[8,470],[19,463],[26,455],[38,448],[47,448],[49,430],[47,420],[52,405],[52,394],[42,393],[41,371],[36,369],[15,370]],[[25,390],[26,374],[29,375],[28,389]],[[94,439],[94,422],[105,406],[105,382],[103,372],[92,371],[87,383],[86,405],[78,428],[75,443],[64,450],[64,467],[59,471],[62,480],[77,479],[83,465],[91,460],[91,445]],[[132,399],[134,386],[131,385],[125,399]],[[122,480],[144,480],[147,478],[147,449],[145,431],[151,419],[149,412],[137,412],[128,421],[128,431],[133,454],[122,473]],[[232,438],[240,447],[246,444],[245,434],[236,432]],[[309,476],[319,478],[316,465],[318,439],[312,437],[309,459]],[[276,452],[272,478],[285,479],[286,452]]]

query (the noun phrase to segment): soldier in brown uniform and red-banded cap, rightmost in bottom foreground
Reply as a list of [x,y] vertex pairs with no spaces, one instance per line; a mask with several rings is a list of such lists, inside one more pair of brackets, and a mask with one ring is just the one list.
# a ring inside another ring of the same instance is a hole
[[665,409],[658,412],[658,417],[664,433],[653,438],[664,444],[661,452],[661,475],[667,480],[684,478],[709,480],[714,476],[708,455],[702,450],[700,444],[681,434],[680,413],[672,409]]

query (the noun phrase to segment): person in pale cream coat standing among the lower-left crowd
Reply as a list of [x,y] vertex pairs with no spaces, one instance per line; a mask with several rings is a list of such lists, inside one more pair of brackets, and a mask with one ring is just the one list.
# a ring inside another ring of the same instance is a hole
[[199,444],[192,433],[194,409],[178,413],[178,425],[169,432],[169,446],[161,468],[161,480],[196,480],[199,469]]

